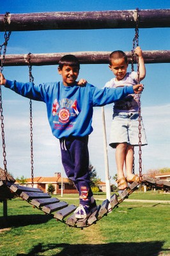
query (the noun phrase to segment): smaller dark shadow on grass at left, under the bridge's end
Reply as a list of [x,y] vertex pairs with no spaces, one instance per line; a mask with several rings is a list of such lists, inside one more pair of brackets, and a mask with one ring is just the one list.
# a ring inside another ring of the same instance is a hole
[[51,218],[51,216],[43,214],[12,215],[6,218],[0,217],[0,228],[24,227],[27,225],[42,224],[46,223]]

